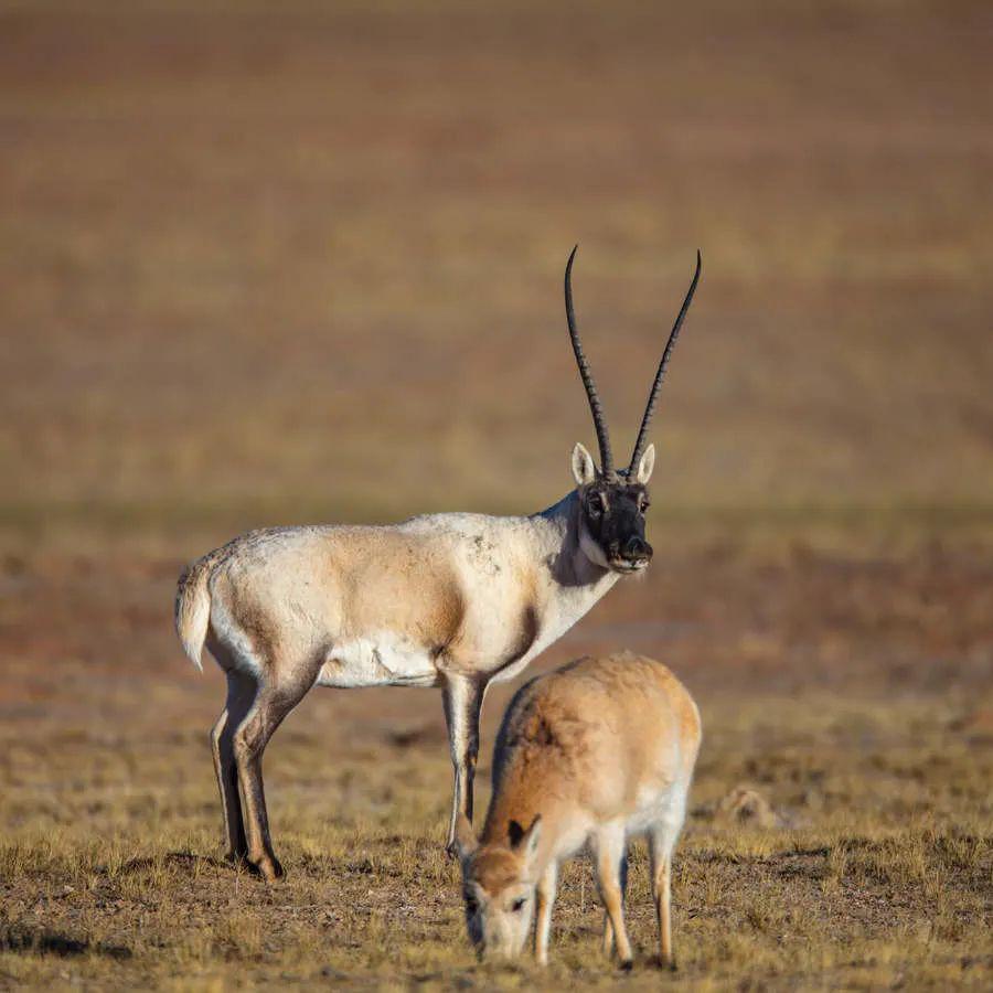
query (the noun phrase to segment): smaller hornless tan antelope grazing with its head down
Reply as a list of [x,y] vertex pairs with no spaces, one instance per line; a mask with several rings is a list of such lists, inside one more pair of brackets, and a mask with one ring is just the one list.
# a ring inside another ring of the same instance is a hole
[[604,951],[616,943],[630,969],[627,848],[643,834],[659,959],[674,968],[672,851],[700,737],[686,688],[661,662],[630,652],[579,659],[517,691],[496,737],[482,836],[461,814],[456,832],[466,922],[480,954],[519,955],[534,918],[534,953],[547,963],[558,865],[588,843],[606,910]]

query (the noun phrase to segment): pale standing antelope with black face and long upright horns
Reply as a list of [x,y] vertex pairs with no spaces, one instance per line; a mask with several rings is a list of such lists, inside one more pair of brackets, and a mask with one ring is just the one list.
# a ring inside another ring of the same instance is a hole
[[[456,816],[472,816],[479,714],[492,680],[509,680],[617,581],[652,557],[644,536],[645,447],[669,356],[700,279],[701,259],[649,393],[631,462],[615,469],[607,421],[573,312],[566,316],[600,448],[576,445],[576,488],[531,516],[430,514],[389,526],[284,527],[235,538],[179,580],[175,623],[194,664],[206,644],[227,674],[211,733],[233,861],[282,875],[269,840],[261,757],[312,686],[439,686]],[[239,797],[241,788],[241,797]]]

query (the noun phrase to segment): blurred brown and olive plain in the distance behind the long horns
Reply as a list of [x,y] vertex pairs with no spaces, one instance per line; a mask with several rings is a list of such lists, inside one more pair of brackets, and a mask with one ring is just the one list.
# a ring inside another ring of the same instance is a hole
[[[993,489],[985,4],[7,4],[6,530]],[[170,547],[175,547],[171,544]],[[202,545],[182,545],[184,554]]]

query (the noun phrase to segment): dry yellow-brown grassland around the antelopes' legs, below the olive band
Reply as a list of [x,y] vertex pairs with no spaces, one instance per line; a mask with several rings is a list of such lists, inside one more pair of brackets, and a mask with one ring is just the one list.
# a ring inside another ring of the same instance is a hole
[[[632,645],[700,701],[681,971],[666,983],[993,982],[989,562],[989,546],[865,560],[712,545],[616,590],[549,653]],[[172,642],[171,563],[114,563],[122,586],[105,566],[38,563],[4,580],[0,981],[616,981],[585,864],[565,875],[547,975],[474,963],[442,854],[450,770],[434,692],[311,694],[267,752],[289,878],[266,887],[221,864],[206,741],[220,673],[199,675]],[[666,622],[645,620],[662,605]],[[489,701],[487,749],[508,693]],[[722,801],[738,787],[771,811],[732,816]],[[638,847],[628,906],[642,959],[626,983],[638,987],[659,982],[643,972],[647,887]]]

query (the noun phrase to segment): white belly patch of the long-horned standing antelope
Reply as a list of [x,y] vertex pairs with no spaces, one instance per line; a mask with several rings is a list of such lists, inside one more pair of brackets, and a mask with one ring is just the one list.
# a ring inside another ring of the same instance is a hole
[[331,648],[317,684],[340,690],[434,686],[438,679],[435,656],[423,644],[382,631]]

